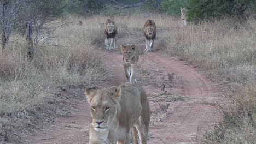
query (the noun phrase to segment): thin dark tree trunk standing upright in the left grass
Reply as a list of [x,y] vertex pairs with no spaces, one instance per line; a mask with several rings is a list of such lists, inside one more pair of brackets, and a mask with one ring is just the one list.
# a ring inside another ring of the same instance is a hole
[[26,23],[27,56],[30,61],[34,58],[33,39],[32,39],[32,21]]

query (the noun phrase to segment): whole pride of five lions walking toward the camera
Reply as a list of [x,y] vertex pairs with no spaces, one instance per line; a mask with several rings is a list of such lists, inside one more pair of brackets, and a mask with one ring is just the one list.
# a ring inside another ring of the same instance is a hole
[[[186,26],[185,12],[181,8],[181,23]],[[105,22],[105,46],[113,50],[117,41],[117,26],[113,20]],[[156,25],[153,20],[144,23],[144,36],[146,40],[145,51],[153,51],[156,37]],[[110,41],[110,44],[109,44]],[[149,101],[144,89],[136,80],[137,62],[139,55],[135,45],[120,45],[123,53],[123,66],[126,83],[120,86],[98,89],[89,85],[85,95],[90,105],[89,143],[102,144],[107,140],[117,141],[118,144],[130,143],[132,131],[133,143],[147,143],[150,122]]]

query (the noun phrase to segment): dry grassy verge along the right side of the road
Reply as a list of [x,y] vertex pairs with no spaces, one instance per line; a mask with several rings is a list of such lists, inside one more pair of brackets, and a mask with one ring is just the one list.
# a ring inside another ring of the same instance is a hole
[[208,131],[203,143],[253,143],[256,141],[256,21],[216,20],[188,25],[166,33],[160,50],[188,61],[214,80],[228,86],[223,122]]

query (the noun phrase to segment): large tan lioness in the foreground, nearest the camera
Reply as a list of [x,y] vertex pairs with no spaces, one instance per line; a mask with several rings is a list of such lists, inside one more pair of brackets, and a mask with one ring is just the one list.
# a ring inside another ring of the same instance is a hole
[[[134,143],[147,143],[150,113],[144,89],[137,83],[123,83],[119,87],[96,89],[89,85],[85,90],[90,104],[89,144],[106,140],[130,143],[132,128]],[[137,129],[137,130],[136,130]]]

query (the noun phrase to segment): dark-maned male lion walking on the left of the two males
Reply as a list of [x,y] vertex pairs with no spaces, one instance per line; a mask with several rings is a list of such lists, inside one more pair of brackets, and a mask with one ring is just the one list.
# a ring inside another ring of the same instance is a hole
[[[113,20],[107,19],[105,22],[105,34],[106,34],[106,39],[105,39],[105,45],[107,50],[113,50],[116,47],[116,40],[117,40],[117,26],[115,26],[115,22]],[[110,45],[108,45],[110,40]],[[114,48],[112,46],[114,41]]]

